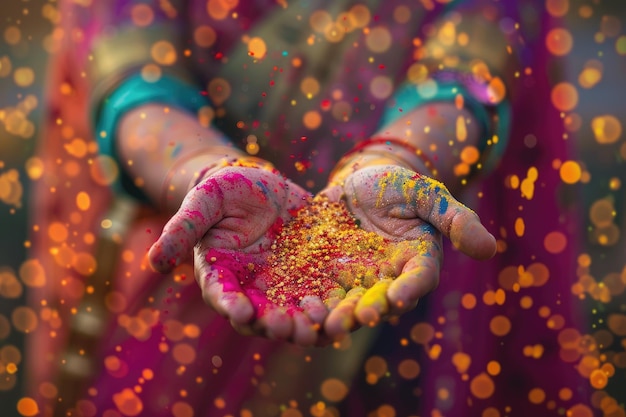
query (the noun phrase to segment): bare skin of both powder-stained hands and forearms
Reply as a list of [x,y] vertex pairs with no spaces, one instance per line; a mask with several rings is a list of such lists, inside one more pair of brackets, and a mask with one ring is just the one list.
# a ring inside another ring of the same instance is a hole
[[[453,125],[459,114],[470,117],[465,110],[447,104],[441,104],[437,111],[434,117],[432,108],[418,109],[378,136],[404,138],[425,149],[425,140],[448,140],[447,126]],[[424,120],[435,127],[428,138],[419,133]],[[440,129],[436,129],[438,126]],[[475,124],[468,124],[467,144],[479,140],[472,126]],[[358,166],[348,164],[341,170],[341,181],[331,179],[322,193],[334,201],[344,200],[364,229],[392,241],[398,255],[387,264],[392,265],[396,278],[367,290],[355,288],[326,303],[311,297],[303,300],[298,310],[279,307],[261,291],[242,288],[241,266],[263,261],[279,226],[288,222],[310,195],[263,164],[218,164],[202,172],[203,166],[224,158],[223,147],[228,142],[219,132],[200,126],[195,118],[176,109],[163,114],[159,105],[144,106],[129,112],[119,129],[120,156],[133,161],[127,171],[132,177],[144,179],[144,192],[156,205],[163,202],[168,172],[173,167],[176,170],[174,192],[161,205],[172,215],[149,250],[151,265],[156,271],[167,273],[176,265],[193,260],[204,300],[242,334],[289,340],[303,346],[324,345],[360,326],[374,326],[414,308],[421,297],[437,286],[444,237],[475,259],[488,259],[496,251],[495,238],[473,211],[452,197],[442,183],[414,171],[428,172],[419,158],[403,155],[411,167],[384,157],[367,159]],[[177,133],[174,142],[172,132]],[[156,146],[137,146],[143,143],[143,135],[149,135],[150,143]],[[190,158],[187,165],[178,164],[176,158],[163,158],[173,144],[181,148],[181,158],[202,155]],[[217,147],[221,151],[212,155],[211,149]],[[444,173],[444,181],[456,188],[458,179],[445,174],[445,167],[454,163],[454,152],[445,146],[439,149],[434,169]],[[368,151],[376,153],[376,146],[365,152]],[[228,156],[238,158],[242,153],[233,149]],[[160,161],[161,169],[155,169],[155,161]],[[421,241],[425,243],[418,244]],[[213,256],[207,255],[215,251],[220,256],[212,262]]]

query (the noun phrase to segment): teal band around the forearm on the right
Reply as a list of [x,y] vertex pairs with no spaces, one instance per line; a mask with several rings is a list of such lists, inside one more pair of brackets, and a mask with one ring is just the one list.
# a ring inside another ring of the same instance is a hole
[[[488,140],[481,142],[479,151],[482,154],[487,149],[487,146],[490,147],[488,150],[488,157],[482,162],[482,165],[483,170],[493,169],[502,157],[509,137],[509,102],[503,100],[495,106],[485,104],[476,99],[461,83],[443,83],[439,81],[437,82],[437,92],[432,96],[429,95],[428,97],[424,97],[420,94],[415,84],[405,83],[395,92],[393,98],[391,99],[393,106],[388,107],[383,113],[381,127],[398,120],[404,114],[417,107],[442,101],[454,102],[458,94],[463,96],[464,106],[472,112],[474,117],[476,117],[482,131],[485,132],[485,134],[490,135]],[[498,116],[498,123],[495,128],[491,122],[490,111],[488,111],[488,109],[495,112]],[[498,141],[489,145],[488,142],[491,142],[491,135],[493,134],[497,135]]]

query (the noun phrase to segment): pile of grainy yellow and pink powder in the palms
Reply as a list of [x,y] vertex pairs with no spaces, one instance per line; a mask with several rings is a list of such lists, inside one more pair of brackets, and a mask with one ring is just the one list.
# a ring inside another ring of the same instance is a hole
[[351,288],[369,288],[385,275],[389,242],[367,232],[343,202],[315,197],[280,231],[267,263],[257,266],[256,286],[281,306],[305,296],[326,300]]

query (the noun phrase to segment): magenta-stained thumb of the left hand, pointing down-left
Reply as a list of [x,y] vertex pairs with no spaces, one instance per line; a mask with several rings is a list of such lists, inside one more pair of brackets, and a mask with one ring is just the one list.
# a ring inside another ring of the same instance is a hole
[[191,191],[148,251],[152,267],[169,272],[188,257],[196,243],[222,217],[219,183],[209,179]]

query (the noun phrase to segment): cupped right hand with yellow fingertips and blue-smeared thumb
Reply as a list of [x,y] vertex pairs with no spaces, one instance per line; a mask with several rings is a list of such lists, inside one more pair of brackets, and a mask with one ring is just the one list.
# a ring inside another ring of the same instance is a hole
[[411,170],[380,165],[359,169],[340,185],[322,191],[344,200],[360,226],[389,240],[395,279],[355,287],[336,300],[324,331],[339,338],[361,325],[373,326],[415,307],[439,282],[442,235],[466,255],[485,260],[496,252],[495,238],[478,216],[440,182]]

